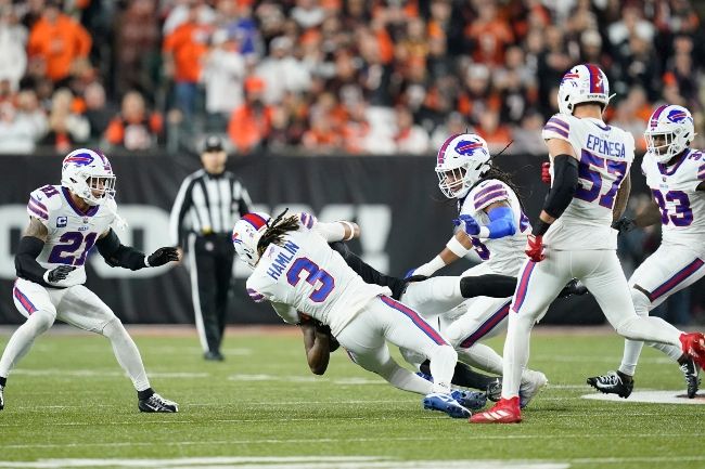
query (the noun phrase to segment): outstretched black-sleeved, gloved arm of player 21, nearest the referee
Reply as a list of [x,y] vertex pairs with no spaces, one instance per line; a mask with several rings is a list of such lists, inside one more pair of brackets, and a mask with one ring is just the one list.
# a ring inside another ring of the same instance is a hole
[[179,253],[177,248],[163,247],[155,250],[150,256],[120,243],[117,234],[110,229],[103,233],[95,243],[98,251],[103,256],[105,262],[112,268],[125,268],[131,271],[138,271],[143,268],[156,268],[167,262],[178,261]]

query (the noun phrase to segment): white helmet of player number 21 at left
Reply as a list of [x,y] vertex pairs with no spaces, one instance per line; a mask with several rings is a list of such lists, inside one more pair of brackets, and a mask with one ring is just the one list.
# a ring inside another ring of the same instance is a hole
[[61,184],[92,206],[115,197],[113,167],[101,151],[78,148],[66,155]]

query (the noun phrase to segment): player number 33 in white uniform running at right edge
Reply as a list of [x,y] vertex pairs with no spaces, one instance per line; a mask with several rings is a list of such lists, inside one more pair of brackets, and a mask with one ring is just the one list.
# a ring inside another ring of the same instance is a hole
[[[705,154],[690,148],[695,138],[693,118],[682,106],[663,105],[651,115],[644,132],[646,154],[641,170],[654,196],[636,219],[615,223],[620,231],[662,224],[662,243],[631,275],[631,299],[637,314],[649,312],[705,275]],[[680,365],[688,396],[697,393],[697,365],[680,347],[651,343]],[[643,342],[625,341],[621,364],[616,372],[588,378],[595,389],[628,398]]]

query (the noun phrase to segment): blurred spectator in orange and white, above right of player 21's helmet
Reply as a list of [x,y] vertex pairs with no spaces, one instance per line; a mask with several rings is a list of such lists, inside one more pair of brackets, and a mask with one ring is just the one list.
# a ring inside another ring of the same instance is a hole
[[142,94],[130,91],[123,97],[120,114],[107,126],[105,140],[127,149],[150,149],[156,147],[163,127],[162,116],[146,109]]

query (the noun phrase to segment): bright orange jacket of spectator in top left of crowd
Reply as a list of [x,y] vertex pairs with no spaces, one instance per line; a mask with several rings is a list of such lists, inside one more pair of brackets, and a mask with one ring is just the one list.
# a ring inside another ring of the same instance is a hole
[[47,76],[57,81],[68,76],[76,58],[88,56],[92,42],[86,28],[70,16],[60,14],[53,24],[41,17],[29,32],[27,54],[42,57]]

